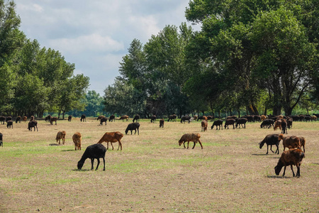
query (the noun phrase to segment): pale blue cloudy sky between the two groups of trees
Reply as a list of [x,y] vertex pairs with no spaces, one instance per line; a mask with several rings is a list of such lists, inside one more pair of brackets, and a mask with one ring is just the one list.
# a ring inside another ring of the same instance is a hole
[[21,31],[45,48],[59,50],[90,77],[89,89],[103,90],[134,38],[143,44],[167,25],[186,21],[189,0],[14,0]]

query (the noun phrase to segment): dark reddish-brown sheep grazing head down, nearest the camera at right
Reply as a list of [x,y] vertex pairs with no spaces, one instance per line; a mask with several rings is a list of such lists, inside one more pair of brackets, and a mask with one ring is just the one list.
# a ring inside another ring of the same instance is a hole
[[[291,148],[287,151],[284,151],[281,154],[281,157],[279,158],[279,161],[276,167],[274,168],[276,175],[279,175],[281,168],[283,168],[284,166],[285,167],[284,173],[282,174],[282,176],[284,177],[287,165],[290,165],[291,171],[293,173],[293,165],[296,165],[297,167],[296,177],[300,177],[300,166],[301,166],[301,161],[303,160],[304,157],[305,157],[305,153],[303,153],[303,151],[301,151],[300,149]],[[295,177],[295,173],[293,173],[293,177]]]

